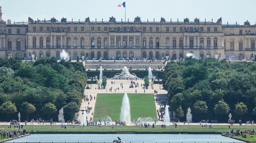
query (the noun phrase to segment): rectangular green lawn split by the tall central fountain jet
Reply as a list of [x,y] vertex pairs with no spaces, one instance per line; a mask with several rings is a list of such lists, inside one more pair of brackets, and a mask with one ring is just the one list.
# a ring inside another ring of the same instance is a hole
[[[153,94],[127,94],[130,101],[131,121],[139,117],[157,120]],[[97,94],[93,120],[108,115],[112,121],[119,120],[124,94]]]

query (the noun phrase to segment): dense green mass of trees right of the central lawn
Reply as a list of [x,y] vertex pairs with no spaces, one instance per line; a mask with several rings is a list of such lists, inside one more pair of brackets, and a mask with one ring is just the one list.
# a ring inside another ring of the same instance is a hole
[[256,115],[256,62],[216,59],[171,61],[163,74],[171,110],[186,121],[191,107],[193,121],[227,122],[228,114],[238,122]]

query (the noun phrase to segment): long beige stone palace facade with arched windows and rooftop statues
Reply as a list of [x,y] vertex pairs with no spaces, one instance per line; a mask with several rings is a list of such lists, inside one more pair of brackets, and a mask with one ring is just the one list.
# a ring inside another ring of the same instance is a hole
[[108,22],[36,20],[7,24],[2,20],[0,7],[0,57],[31,59],[35,56],[61,59],[64,49],[77,59],[108,60],[111,58],[184,58],[192,53],[197,58],[245,58],[255,52],[255,25],[222,25],[217,22],[200,22],[199,19],[179,21],[160,19],[160,22],[134,20]]

